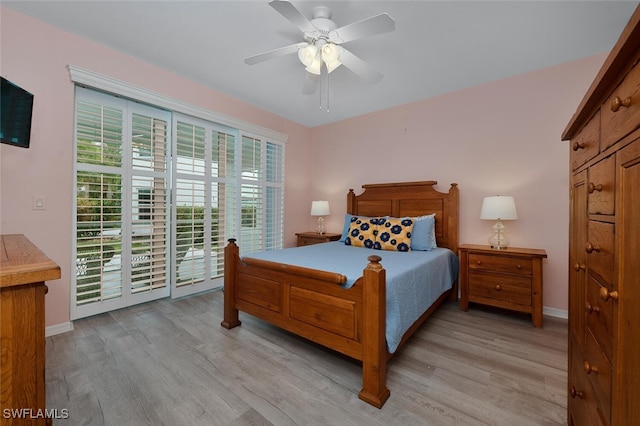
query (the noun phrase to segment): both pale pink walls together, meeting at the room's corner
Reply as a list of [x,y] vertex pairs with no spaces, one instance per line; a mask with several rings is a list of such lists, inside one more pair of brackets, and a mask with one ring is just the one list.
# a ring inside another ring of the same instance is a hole
[[[544,305],[567,309],[568,144],[560,142],[560,133],[604,55],[308,129],[9,9],[0,7],[0,19],[0,72],[36,95],[32,147],[0,146],[0,232],[26,234],[62,266],[62,278],[49,283],[47,326],[69,321],[68,64],[289,135],[289,246],[295,232],[314,229],[313,199],[330,201],[327,226],[339,232],[347,189],[363,183],[436,179],[446,190],[457,182],[461,243],[484,243],[489,235],[491,224],[479,219],[482,197],[513,195],[520,217],[507,223],[512,244],[547,250]],[[391,149],[398,153],[395,160]],[[34,195],[46,198],[45,211],[32,210]]]

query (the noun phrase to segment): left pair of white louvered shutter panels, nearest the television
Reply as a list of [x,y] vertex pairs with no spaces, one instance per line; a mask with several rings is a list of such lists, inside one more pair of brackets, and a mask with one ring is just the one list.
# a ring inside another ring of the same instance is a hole
[[169,294],[168,118],[77,89],[72,319]]

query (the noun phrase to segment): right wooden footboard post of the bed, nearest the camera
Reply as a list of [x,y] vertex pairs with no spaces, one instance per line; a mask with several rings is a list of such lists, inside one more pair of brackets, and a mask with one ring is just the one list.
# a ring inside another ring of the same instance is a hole
[[371,255],[364,269],[362,290],[362,390],[358,397],[381,408],[387,388],[386,272],[380,256]]

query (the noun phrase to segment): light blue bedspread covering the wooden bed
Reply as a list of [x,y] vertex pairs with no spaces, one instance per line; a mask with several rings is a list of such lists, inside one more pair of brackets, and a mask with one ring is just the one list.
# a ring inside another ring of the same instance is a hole
[[247,257],[336,272],[347,277],[345,288],[362,276],[367,257],[375,254],[387,276],[387,348],[393,353],[411,325],[458,278],[458,257],[449,249],[394,252],[329,242],[286,248]]

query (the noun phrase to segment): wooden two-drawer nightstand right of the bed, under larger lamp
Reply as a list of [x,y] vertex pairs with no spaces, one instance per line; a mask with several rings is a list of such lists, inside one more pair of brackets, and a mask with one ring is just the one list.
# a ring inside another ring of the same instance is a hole
[[542,259],[540,249],[463,244],[460,256],[460,309],[469,302],[531,314],[542,327]]

